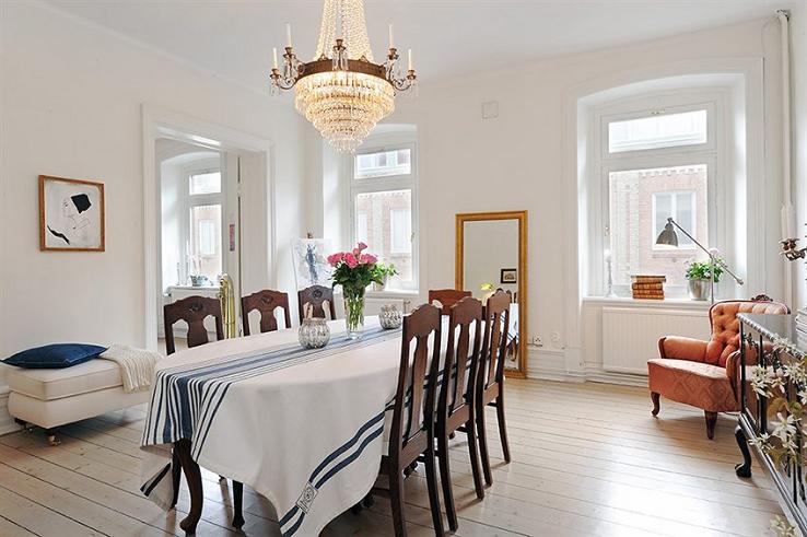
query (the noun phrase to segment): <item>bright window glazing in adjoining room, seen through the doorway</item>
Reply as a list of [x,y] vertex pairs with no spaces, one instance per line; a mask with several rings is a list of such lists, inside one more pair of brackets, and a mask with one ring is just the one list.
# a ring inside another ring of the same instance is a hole
[[188,173],[188,231],[185,238],[188,276],[206,276],[211,282],[223,272],[221,173]]

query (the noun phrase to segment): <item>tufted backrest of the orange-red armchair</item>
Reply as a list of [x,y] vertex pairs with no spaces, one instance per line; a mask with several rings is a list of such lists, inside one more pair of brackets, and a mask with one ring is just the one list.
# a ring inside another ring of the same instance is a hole
[[759,295],[752,300],[715,302],[709,310],[712,338],[706,345],[706,363],[725,366],[728,357],[739,349],[737,315],[740,313],[784,315],[790,313],[790,308],[765,295]]

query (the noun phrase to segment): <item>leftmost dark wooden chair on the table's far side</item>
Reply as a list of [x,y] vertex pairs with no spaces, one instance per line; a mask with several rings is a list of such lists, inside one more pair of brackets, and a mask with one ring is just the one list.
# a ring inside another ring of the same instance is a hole
[[[219,299],[208,296],[188,296],[171,304],[163,306],[163,318],[165,320],[165,352],[173,354],[176,352],[174,343],[174,325],[179,320],[188,324],[188,348],[198,347],[210,342],[208,330],[204,328],[204,319],[212,316],[215,320],[215,339],[224,339],[224,328],[221,315],[221,302]],[[179,480],[182,478],[182,464],[176,448],[172,454],[173,463],[171,466],[172,479],[174,481],[174,498],[171,506],[176,506],[179,499]],[[220,476],[224,479],[222,476]],[[233,481],[233,526],[242,527],[244,525],[244,516],[242,515],[244,502],[244,485]]]

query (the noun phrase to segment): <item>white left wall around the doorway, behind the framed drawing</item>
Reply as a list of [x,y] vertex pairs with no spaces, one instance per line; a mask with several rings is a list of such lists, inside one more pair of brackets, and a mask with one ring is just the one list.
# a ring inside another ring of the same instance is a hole
[[[277,244],[302,236],[303,122],[289,101],[46,4],[0,9],[0,355],[54,341],[143,345],[142,103],[272,140]],[[105,253],[39,252],[38,174],[105,184]],[[293,281],[288,258],[278,270],[281,285]]]

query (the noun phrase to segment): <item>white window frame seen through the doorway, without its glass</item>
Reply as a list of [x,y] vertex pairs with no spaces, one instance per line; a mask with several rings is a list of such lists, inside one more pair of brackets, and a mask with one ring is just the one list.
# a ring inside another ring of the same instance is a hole
[[[221,175],[221,191],[215,194],[190,194],[190,176],[191,175],[198,175],[198,174],[204,174],[204,173],[215,173],[218,172]],[[182,185],[179,190],[179,196],[182,199],[180,203],[180,210],[183,211],[183,217],[179,219],[179,231],[182,233],[182,252],[180,252],[180,267],[179,267],[179,277],[180,277],[180,285],[188,284],[188,253],[185,249],[185,245],[190,242],[190,209],[194,207],[199,206],[210,206],[210,205],[220,205],[221,206],[221,244],[219,245],[220,252],[221,252],[221,270],[222,272],[227,271],[226,267],[226,259],[227,256],[225,255],[226,249],[226,231],[224,229],[224,222],[225,222],[225,214],[226,214],[226,186],[224,182],[224,174],[221,170],[221,163],[219,162],[219,159],[206,159],[203,161],[195,162],[188,166],[184,166],[182,168]],[[218,285],[218,282],[213,282],[213,285]]]

